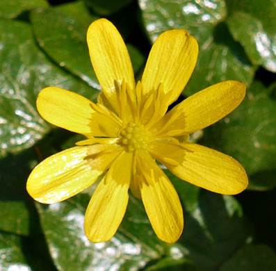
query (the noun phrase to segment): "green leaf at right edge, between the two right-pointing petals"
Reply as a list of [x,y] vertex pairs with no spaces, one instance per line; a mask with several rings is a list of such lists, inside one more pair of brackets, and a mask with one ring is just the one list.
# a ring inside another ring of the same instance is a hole
[[250,189],[276,186],[276,101],[261,83],[254,82],[233,113],[204,131],[204,145],[233,156],[245,167]]

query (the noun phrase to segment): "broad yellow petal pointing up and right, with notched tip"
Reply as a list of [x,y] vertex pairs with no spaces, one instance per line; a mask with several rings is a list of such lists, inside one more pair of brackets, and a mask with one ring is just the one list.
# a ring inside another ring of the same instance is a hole
[[142,78],[143,99],[164,86],[170,92],[168,104],[175,101],[190,79],[197,62],[198,45],[186,30],[162,33],[152,46]]

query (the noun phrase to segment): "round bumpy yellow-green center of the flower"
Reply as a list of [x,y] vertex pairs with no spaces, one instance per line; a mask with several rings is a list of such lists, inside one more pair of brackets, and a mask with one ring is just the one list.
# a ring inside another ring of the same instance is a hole
[[122,144],[126,145],[129,151],[136,149],[147,149],[149,145],[149,132],[145,126],[130,122],[120,133]]

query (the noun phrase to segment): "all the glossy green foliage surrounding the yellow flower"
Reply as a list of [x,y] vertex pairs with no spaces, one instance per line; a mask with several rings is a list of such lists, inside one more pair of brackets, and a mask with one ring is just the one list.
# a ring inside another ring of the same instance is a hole
[[[1,0],[0,17],[0,270],[276,270],[275,0]],[[35,99],[55,85],[95,100],[86,31],[99,17],[122,33],[137,78],[156,37],[187,28],[200,56],[181,99],[228,79],[247,85],[234,113],[191,139],[234,156],[250,186],[222,196],[167,172],[185,210],[174,245],[133,197],[115,237],[93,244],[83,218],[94,187],[49,206],[26,192],[35,165],[81,140],[44,122]]]

